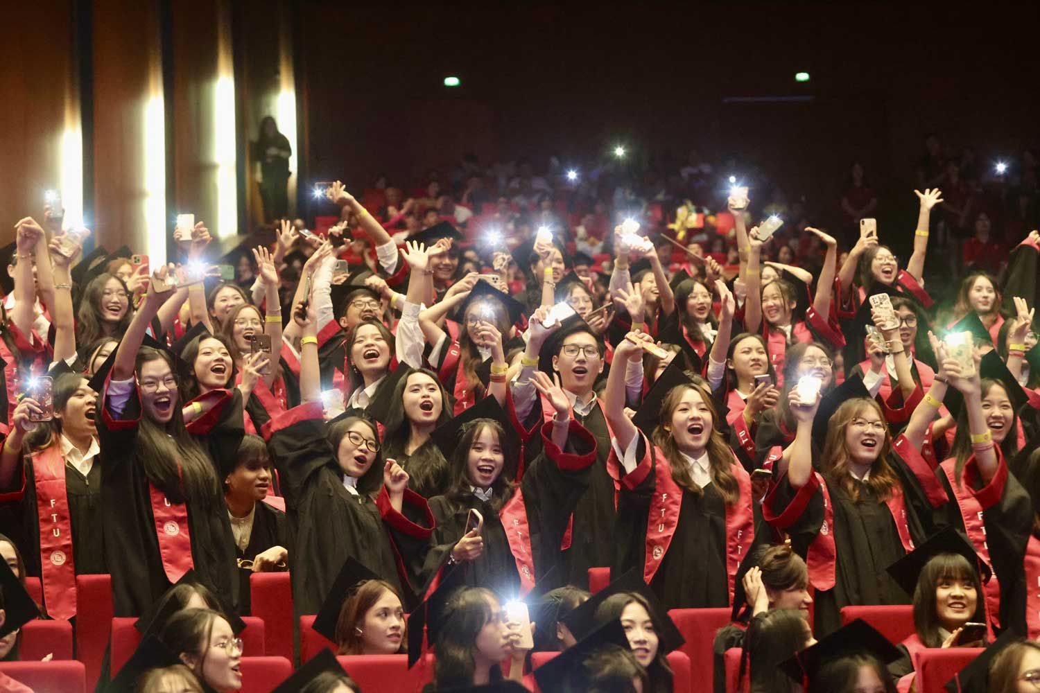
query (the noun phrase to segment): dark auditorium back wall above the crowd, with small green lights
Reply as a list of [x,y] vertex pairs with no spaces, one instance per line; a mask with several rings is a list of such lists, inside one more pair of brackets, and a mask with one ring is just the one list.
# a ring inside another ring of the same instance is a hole
[[[984,18],[894,3],[302,7],[312,178],[355,186],[467,150],[566,160],[623,139],[755,156],[827,201],[861,159],[905,197],[930,130],[1010,153],[1038,122],[1035,5]],[[813,101],[723,101],[787,96]]]

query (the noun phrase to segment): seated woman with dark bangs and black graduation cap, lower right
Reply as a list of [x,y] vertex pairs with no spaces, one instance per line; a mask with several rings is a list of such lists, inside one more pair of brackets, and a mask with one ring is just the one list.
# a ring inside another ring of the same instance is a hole
[[[888,666],[901,677],[901,688],[908,689],[914,679],[924,650],[980,647],[989,640],[982,584],[989,579],[990,568],[952,526],[888,566],[888,572],[913,594],[914,633],[898,645],[904,657]],[[965,630],[968,623],[981,623],[983,633]]]

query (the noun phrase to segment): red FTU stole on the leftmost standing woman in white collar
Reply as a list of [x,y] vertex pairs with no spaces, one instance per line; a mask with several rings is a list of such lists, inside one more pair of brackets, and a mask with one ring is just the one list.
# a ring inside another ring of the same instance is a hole
[[76,567],[64,465],[56,439],[32,456],[44,604],[51,618],[68,620],[76,615]]

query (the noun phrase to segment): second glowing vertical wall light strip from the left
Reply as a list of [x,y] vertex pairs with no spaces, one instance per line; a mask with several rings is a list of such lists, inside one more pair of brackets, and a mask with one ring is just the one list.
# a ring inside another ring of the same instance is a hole
[[[160,82],[161,84],[161,82]],[[145,102],[145,233],[153,267],[166,262],[166,124],[162,89]]]

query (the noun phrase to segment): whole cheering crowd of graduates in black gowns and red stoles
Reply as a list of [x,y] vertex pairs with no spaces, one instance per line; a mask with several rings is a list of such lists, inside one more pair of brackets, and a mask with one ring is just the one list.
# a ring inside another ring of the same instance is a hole
[[[99,690],[238,690],[251,576],[288,571],[339,655],[430,691],[678,691],[669,611],[702,608],[732,622],[694,690],[734,647],[740,690],[880,693],[977,646],[961,690],[1040,690],[1040,234],[943,286],[944,186],[832,234],[738,182],[712,211],[469,174],[322,184],[338,215],[231,273],[203,221],[168,264],[18,221],[0,660],[108,574],[142,640]],[[902,642],[842,625],[901,604]],[[279,690],[359,689],[323,656]]]

